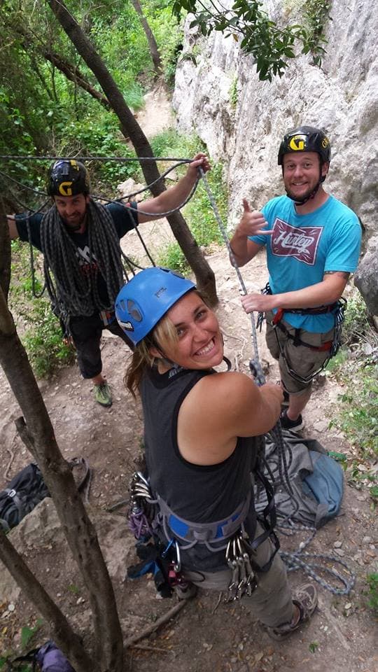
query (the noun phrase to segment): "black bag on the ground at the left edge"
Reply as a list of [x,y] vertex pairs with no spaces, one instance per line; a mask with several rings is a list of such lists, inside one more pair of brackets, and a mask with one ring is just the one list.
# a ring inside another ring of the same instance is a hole
[[0,491],[0,526],[9,531],[49,496],[38,466],[34,463],[27,465],[13,477],[6,489]]

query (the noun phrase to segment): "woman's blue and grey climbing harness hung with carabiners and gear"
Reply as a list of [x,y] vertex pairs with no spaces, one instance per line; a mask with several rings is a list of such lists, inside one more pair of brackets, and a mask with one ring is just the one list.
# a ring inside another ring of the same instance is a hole
[[[181,572],[181,551],[196,544],[204,544],[210,552],[225,549],[225,563],[232,572],[225,601],[239,599],[244,594],[250,596],[258,584],[258,573],[269,570],[279,550],[279,540],[274,532],[276,512],[272,485],[258,467],[253,473],[265,487],[267,505],[258,515],[263,532],[250,540],[244,528],[244,520],[251,503],[252,484],[244,501],[227,519],[194,523],[176,516],[158,493],[153,498],[148,479],[141,472],[135,472],[130,483],[129,519],[137,538],[137,554],[142,562],[128,568],[128,577],[136,578],[150,571],[163,597],[172,596],[174,587],[185,591],[188,582]],[[164,533],[167,544],[162,542],[158,530]],[[267,563],[260,567],[253,561],[252,554],[268,538],[273,543],[272,554]]]

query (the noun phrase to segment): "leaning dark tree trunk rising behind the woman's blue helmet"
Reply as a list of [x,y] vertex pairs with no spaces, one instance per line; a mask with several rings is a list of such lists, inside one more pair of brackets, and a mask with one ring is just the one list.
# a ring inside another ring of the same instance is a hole
[[[66,9],[64,3],[60,0],[45,0],[50,5],[52,12],[57,17],[60,25],[69,36],[71,42],[75,45],[80,56],[85,60],[88,68],[92,70],[96,76],[99,85],[102,87],[106,98],[109,100],[113,111],[120,120],[121,131],[126,138],[130,138],[134,145],[135,151],[139,157],[152,156],[152,149],[141,127],[134,119],[134,116],[127,107],[122,93],[120,92],[116,82],[106,68],[104,61],[94,50],[92,43],[87,39],[83,30],[80,28],[76,20],[71,16]],[[150,184],[160,177],[158,167],[155,161],[141,162],[141,169],[143,171],[146,183]],[[162,181],[151,187],[154,196],[158,196],[165,190]],[[181,213],[176,212],[168,216],[169,224],[171,225],[174,237],[178,241],[183,253],[188,261],[188,264],[193,269],[197,280],[197,286],[207,293],[212,304],[216,304],[216,284],[214,272],[211,270],[209,264],[204,259],[197,242],[193,238],[188,225]]]

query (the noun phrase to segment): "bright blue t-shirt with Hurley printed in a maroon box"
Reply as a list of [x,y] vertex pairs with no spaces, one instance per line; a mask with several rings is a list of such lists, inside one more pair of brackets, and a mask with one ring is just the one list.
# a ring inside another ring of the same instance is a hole
[[[325,271],[353,272],[360,254],[358,217],[333,196],[309,214],[297,214],[294,202],[278,196],[262,208],[273,230],[271,236],[253,236],[267,246],[269,284],[273,294],[293,292],[323,280]],[[275,312],[275,311],[274,311]],[[332,314],[297,315],[285,311],[284,319],[295,328],[315,333],[332,329]]]

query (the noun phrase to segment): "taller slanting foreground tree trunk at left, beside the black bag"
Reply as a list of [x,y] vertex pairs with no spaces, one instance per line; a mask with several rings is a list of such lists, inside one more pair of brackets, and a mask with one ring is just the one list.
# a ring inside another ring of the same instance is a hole
[[[10,247],[4,217],[0,218],[0,240],[5,242],[0,247],[1,269]],[[72,650],[75,640],[60,639],[59,645],[80,672],[123,672],[123,636],[113,586],[97,534],[87,517],[71,468],[59,451],[27,353],[18,338],[2,289],[6,281],[1,281],[0,285],[0,365],[25,416],[32,454],[41,469],[69,547],[83,575],[93,613],[96,663],[92,661],[92,667],[83,667],[80,662],[83,655],[80,657],[76,649]],[[22,578],[20,581],[25,584]],[[45,607],[48,609],[50,605]],[[54,624],[58,633],[60,626],[60,623]]]

